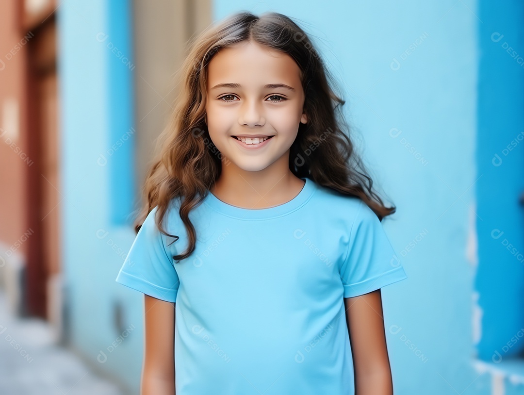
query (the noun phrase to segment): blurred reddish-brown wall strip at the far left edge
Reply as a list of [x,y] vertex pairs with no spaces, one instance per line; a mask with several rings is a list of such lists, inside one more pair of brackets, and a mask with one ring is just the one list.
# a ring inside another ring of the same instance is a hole
[[[35,158],[29,155],[27,136],[27,43],[34,34],[20,35],[17,2],[0,2],[0,287],[9,309],[20,312],[22,290],[16,280],[25,264],[32,229],[27,228],[26,183]],[[7,226],[7,224],[9,224]]]

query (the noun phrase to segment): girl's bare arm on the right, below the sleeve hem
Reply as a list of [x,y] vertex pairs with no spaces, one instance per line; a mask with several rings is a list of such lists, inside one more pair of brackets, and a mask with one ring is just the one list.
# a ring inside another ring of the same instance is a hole
[[350,333],[355,395],[392,395],[380,289],[344,298]]

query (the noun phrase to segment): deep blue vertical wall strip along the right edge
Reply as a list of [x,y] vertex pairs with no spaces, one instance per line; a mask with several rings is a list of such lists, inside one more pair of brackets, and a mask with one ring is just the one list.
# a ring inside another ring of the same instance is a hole
[[[479,357],[496,364],[524,349],[524,35],[522,2],[481,7],[476,185],[482,309]],[[524,367],[521,369],[524,373]]]

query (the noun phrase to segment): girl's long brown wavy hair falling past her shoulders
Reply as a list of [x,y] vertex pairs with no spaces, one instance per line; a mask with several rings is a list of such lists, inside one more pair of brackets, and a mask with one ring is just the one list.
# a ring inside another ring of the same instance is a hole
[[155,222],[159,231],[178,240],[178,236],[165,231],[162,220],[172,199],[180,197],[179,215],[187,230],[189,245],[184,253],[173,256],[176,261],[189,257],[194,251],[196,233],[189,212],[210,193],[222,169],[221,154],[211,141],[205,123],[208,64],[221,48],[245,40],[287,53],[301,70],[308,123],[299,124],[297,138],[291,145],[291,172],[342,194],[359,197],[380,221],[396,210],[395,206],[385,207],[372,190],[373,181],[354,152],[350,128],[341,112],[345,101],[333,93],[331,86],[335,84],[328,82],[333,81],[332,75],[309,37],[285,15],[271,12],[257,17],[239,12],[189,41],[189,53],[180,69],[181,88],[174,111],[159,136],[157,155],[146,175],[143,190],[146,202],[136,220],[135,231],[138,232],[146,216],[158,206]]

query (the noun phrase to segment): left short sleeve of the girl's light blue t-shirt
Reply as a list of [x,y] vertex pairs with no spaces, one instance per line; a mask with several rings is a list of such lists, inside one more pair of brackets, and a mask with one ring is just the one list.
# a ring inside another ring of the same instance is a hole
[[165,237],[155,223],[157,208],[151,210],[144,220],[115,281],[154,298],[174,303],[179,278],[172,256],[166,249]]

